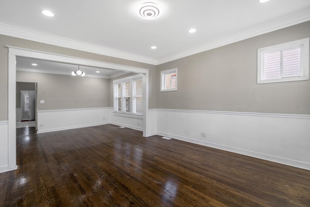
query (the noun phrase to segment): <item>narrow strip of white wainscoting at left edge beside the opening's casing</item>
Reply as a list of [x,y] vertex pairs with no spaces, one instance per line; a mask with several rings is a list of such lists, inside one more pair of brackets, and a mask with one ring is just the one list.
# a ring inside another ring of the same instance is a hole
[[8,121],[0,121],[0,173],[9,171]]

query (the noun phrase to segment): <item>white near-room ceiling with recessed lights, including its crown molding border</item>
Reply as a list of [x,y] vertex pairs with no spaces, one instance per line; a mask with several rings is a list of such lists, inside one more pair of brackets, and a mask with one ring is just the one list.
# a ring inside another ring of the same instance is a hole
[[2,0],[0,33],[161,64],[310,20],[310,0],[152,0],[161,16],[145,20],[137,9],[148,1]]

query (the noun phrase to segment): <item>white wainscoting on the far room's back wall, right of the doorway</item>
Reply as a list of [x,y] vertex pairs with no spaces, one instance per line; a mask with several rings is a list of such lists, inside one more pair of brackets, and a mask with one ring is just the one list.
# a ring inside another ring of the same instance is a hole
[[109,124],[109,107],[38,111],[38,132],[60,131]]

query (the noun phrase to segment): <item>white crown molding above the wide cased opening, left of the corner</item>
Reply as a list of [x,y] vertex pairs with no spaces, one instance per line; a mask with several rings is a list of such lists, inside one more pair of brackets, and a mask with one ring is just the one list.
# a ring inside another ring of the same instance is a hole
[[152,58],[143,57],[113,48],[101,47],[46,32],[39,32],[28,28],[18,27],[4,22],[0,22],[0,34],[140,63],[156,64],[156,60]]

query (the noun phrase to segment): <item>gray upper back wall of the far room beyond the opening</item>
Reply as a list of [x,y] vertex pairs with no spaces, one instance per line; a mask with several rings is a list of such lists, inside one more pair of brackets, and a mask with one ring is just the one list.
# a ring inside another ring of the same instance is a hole
[[109,79],[16,71],[16,81],[37,82],[37,110],[109,107]]

